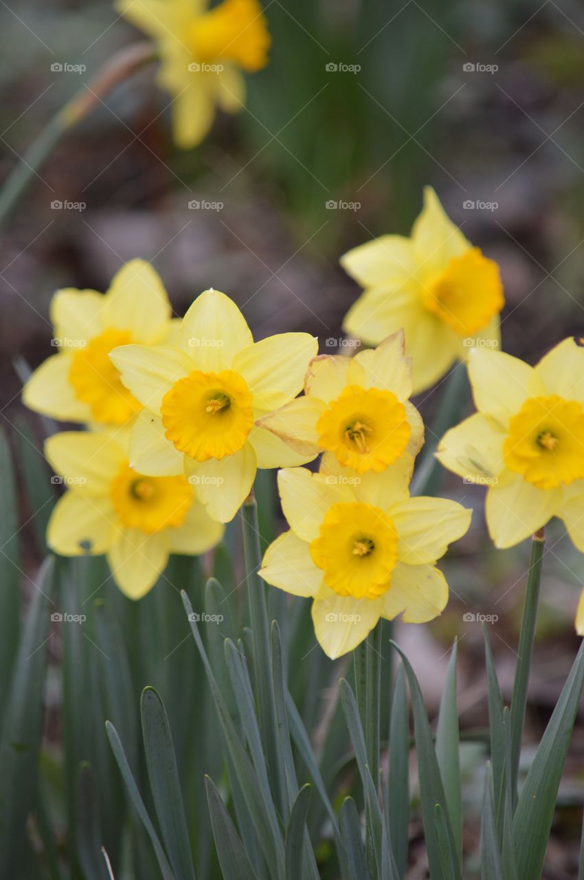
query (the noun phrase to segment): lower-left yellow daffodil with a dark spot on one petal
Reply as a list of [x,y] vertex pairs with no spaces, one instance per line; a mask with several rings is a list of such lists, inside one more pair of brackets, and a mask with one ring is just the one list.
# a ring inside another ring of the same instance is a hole
[[202,554],[222,539],[186,476],[147,477],[128,464],[128,431],[66,431],[45,453],[67,491],[47,528],[63,556],[106,554],[113,580],[139,599],[157,582],[168,556]]

